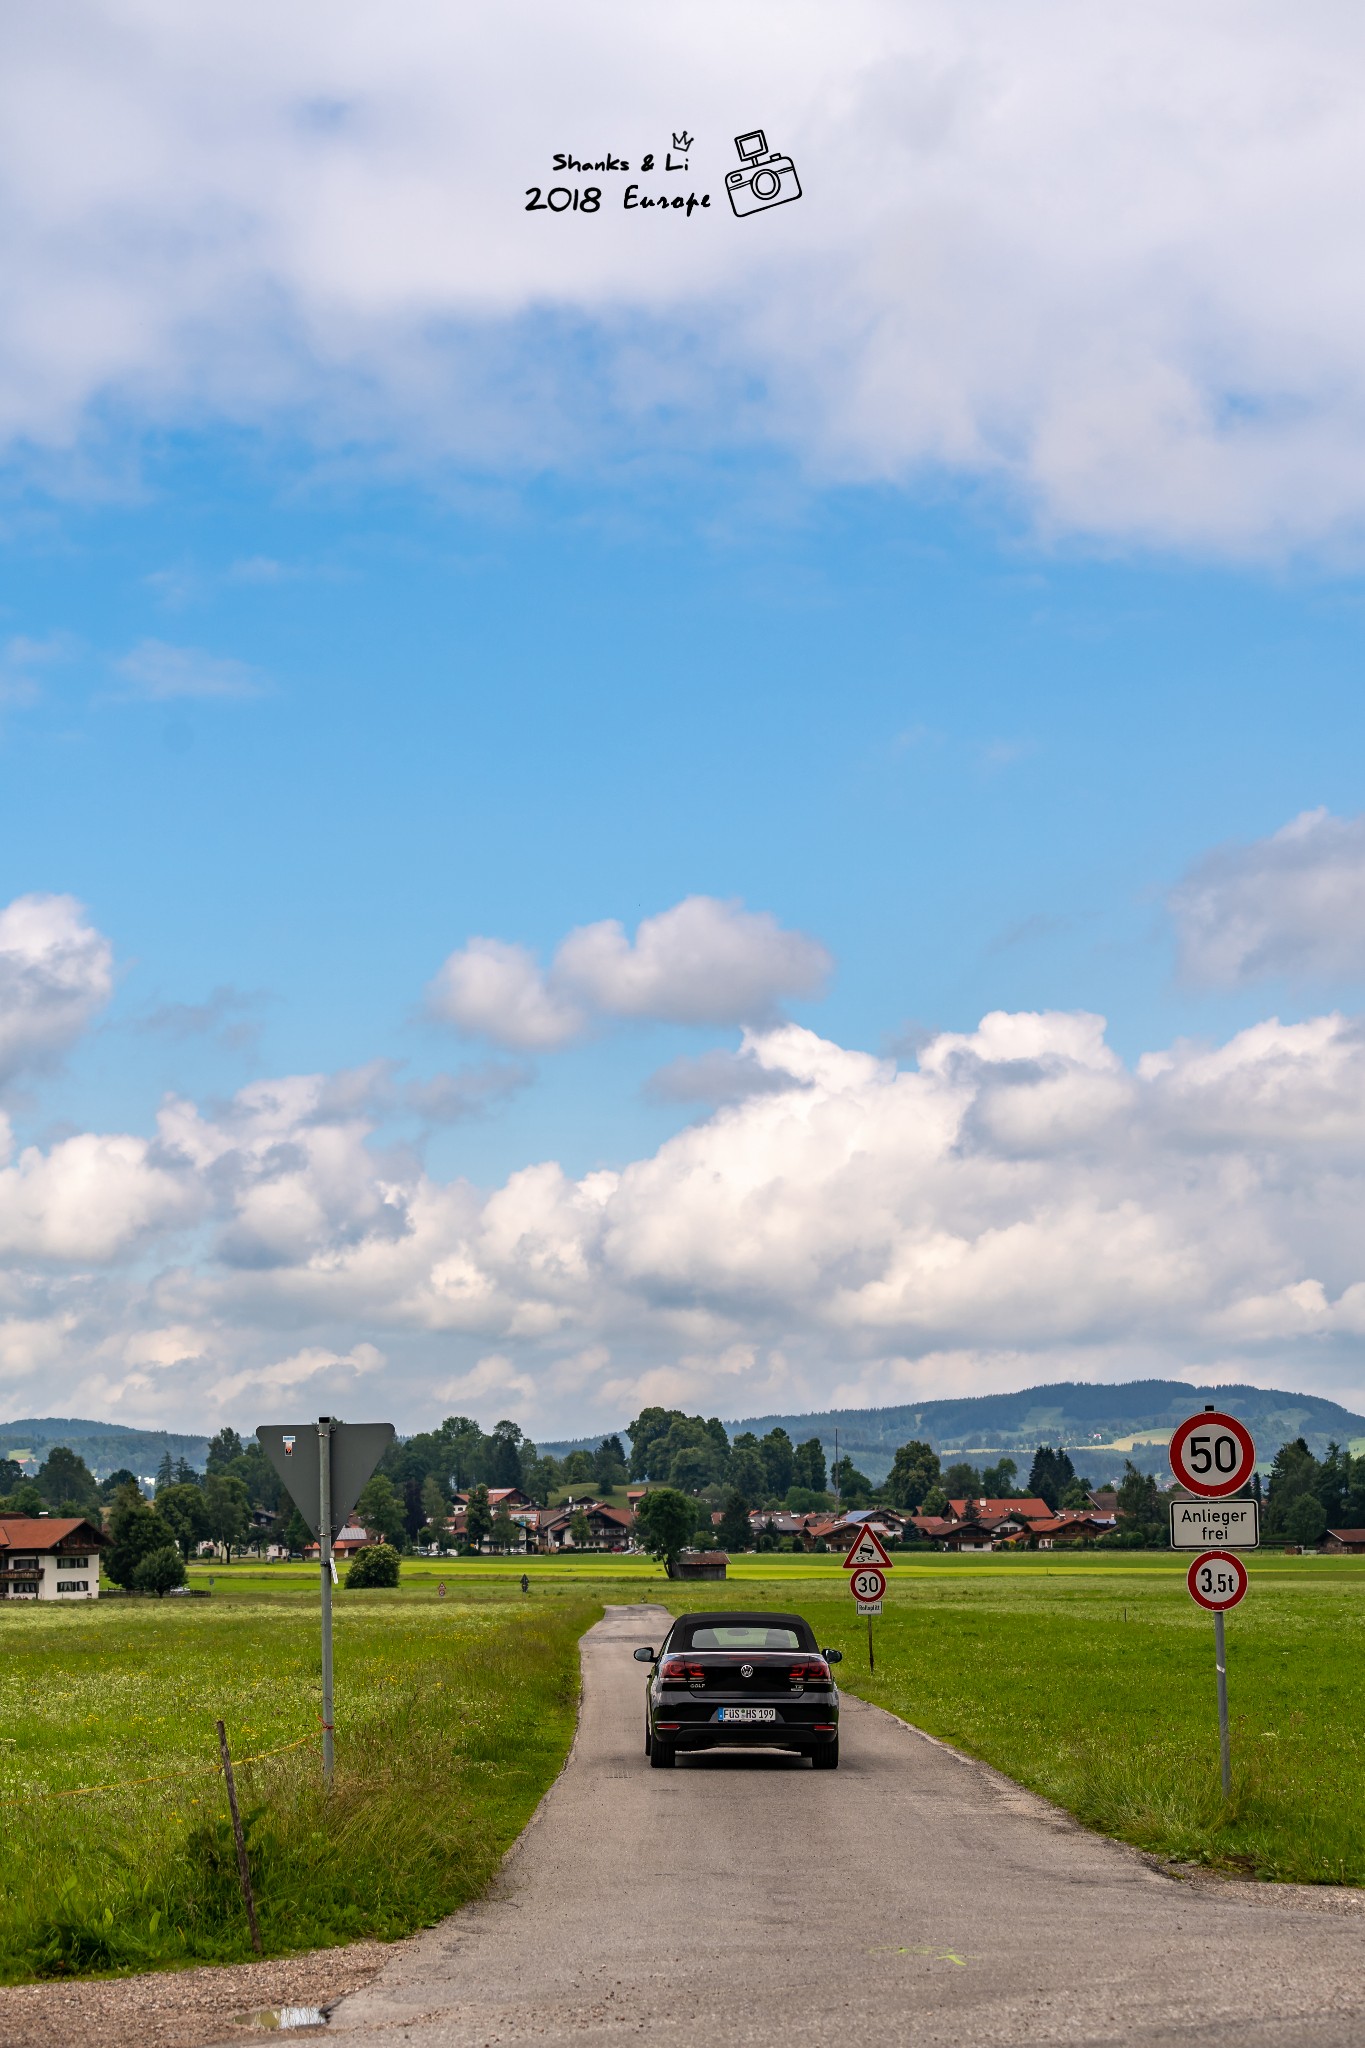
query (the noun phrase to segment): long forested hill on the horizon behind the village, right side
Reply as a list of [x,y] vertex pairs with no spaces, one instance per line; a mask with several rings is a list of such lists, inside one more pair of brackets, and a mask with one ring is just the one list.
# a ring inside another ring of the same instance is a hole
[[[1261,1458],[1281,1444],[1306,1438],[1318,1456],[1328,1442],[1351,1444],[1365,1438],[1365,1415],[1355,1415],[1320,1395],[1295,1395],[1265,1386],[1191,1386],[1189,1380],[1124,1380],[1101,1386],[1089,1380],[1058,1380],[1025,1386],[1013,1395],[974,1395],[956,1401],[915,1401],[902,1407],[827,1409],[806,1415],[749,1415],[726,1423],[731,1436],[753,1430],[763,1436],[778,1423],[792,1442],[819,1436],[839,1454],[847,1452],[870,1479],[880,1479],[892,1452],[909,1438],[923,1438],[937,1452],[1033,1452],[1038,1444],[1066,1444],[1076,1466],[1095,1481],[1117,1475],[1128,1454],[1154,1470],[1164,1464],[1164,1444],[1175,1425],[1205,1401],[1230,1409],[1257,1438]],[[1142,1450],[1148,1438],[1150,1448]]]

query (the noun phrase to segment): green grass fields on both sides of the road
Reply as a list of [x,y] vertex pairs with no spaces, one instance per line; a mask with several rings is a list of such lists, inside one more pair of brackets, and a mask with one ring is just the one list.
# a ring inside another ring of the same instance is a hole
[[1214,1630],[1177,1559],[898,1556],[876,1673],[837,1559],[745,1559],[724,1587],[669,1583],[643,1559],[409,1563],[397,1593],[338,1595],[329,1800],[311,1747],[315,1567],[213,1581],[211,1599],[0,1608],[2,1980],[250,1956],[219,1714],[237,1757],[309,1743],[239,1774],[268,1954],[452,1911],[563,1763],[577,1636],[604,1602],[796,1608],[845,1651],[845,1690],[1093,1827],[1214,1868],[1365,1882],[1353,1559],[1252,1561],[1228,1618],[1228,1808]]

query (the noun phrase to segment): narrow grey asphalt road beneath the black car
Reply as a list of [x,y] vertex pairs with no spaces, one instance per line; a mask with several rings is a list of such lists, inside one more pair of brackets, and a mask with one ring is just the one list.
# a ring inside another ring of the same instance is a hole
[[495,1890],[336,2009],[346,2048],[1365,2042],[1359,1894],[1179,1882],[847,1696],[839,1772],[651,1772],[630,1651],[665,1626],[583,1638],[563,1778]]

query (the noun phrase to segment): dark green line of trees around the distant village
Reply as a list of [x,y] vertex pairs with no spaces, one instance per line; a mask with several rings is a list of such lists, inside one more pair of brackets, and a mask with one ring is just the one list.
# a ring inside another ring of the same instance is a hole
[[[935,1516],[945,1513],[950,1501],[1019,1497],[1066,1509],[1087,1507],[1093,1491],[1068,1452],[1050,1444],[1038,1446],[1027,1479],[1019,1481],[1015,1458],[1003,1456],[980,1468],[962,1458],[945,1464],[931,1444],[911,1440],[896,1450],[886,1481],[874,1485],[847,1456],[827,1466],[819,1438],[792,1444],[782,1427],[761,1438],[751,1430],[731,1438],[716,1415],[645,1407],[628,1438],[628,1454],[618,1436],[606,1436],[591,1452],[553,1458],[536,1450],[516,1421],[503,1419],[485,1432],[469,1415],[448,1415],[438,1430],[391,1444],[360,1495],[356,1516],[397,1552],[452,1548],[448,1518],[460,1493],[469,1501],[465,1542],[512,1548],[518,1530],[505,1505],[493,1499],[501,1489],[520,1487],[530,1501],[548,1505],[565,1493],[610,1497],[636,1481],[651,1493],[667,1491],[684,1501],[684,1507],[665,1509],[659,1503],[649,1511],[649,1518],[659,1518],[659,1528],[667,1522],[665,1548],[675,1554],[684,1540],[720,1542],[729,1550],[753,1546],[753,1509],[817,1513],[835,1505],[886,1503],[905,1513]],[[1115,1491],[1119,1528],[1101,1542],[1164,1544],[1166,1495],[1156,1479],[1128,1460]],[[1304,1438],[1283,1444],[1265,1487],[1257,1477],[1250,1491],[1261,1499],[1263,1530],[1271,1540],[1314,1544],[1328,1528],[1365,1528],[1365,1456],[1353,1456],[1338,1444],[1330,1444],[1322,1458],[1310,1452]],[[303,1516],[260,1444],[231,1427],[211,1440],[203,1473],[166,1452],[151,1501],[133,1473],[119,1470],[96,1481],[84,1458],[63,1446],[47,1452],[33,1479],[14,1460],[0,1460],[0,1513],[84,1516],[102,1524],[111,1534],[106,1575],[117,1585],[143,1583],[149,1591],[180,1583],[186,1561],[203,1544],[231,1559],[270,1544],[301,1552],[311,1542]],[[684,1530],[688,1518],[692,1526]],[[583,1522],[577,1540],[585,1536]],[[776,1544],[774,1536],[757,1538],[759,1548]],[[168,1550],[170,1563],[164,1556]],[[149,1565],[149,1559],[158,1563]]]

